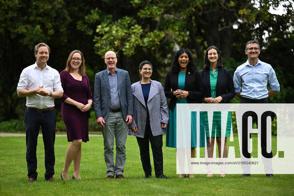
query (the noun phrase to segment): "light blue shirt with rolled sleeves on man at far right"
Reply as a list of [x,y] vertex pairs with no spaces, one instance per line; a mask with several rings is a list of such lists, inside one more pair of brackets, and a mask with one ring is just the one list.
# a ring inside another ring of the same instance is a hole
[[249,99],[263,99],[268,97],[267,84],[274,91],[280,91],[280,84],[275,71],[268,63],[258,59],[255,66],[246,63],[240,65],[234,73],[235,92],[241,92],[241,96]]

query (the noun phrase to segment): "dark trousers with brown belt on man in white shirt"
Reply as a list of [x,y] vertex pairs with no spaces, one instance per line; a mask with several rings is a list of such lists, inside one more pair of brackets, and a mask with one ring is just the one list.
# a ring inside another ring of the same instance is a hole
[[54,175],[54,142],[56,113],[55,110],[48,112],[36,112],[26,110],[24,116],[26,128],[26,163],[28,166],[28,177],[37,179],[37,142],[40,126],[42,128],[44,150],[45,150],[45,179],[49,180]]

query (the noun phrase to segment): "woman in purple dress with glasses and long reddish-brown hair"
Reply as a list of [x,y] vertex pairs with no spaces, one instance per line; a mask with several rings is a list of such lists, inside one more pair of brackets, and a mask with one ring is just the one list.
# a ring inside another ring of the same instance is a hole
[[90,83],[85,74],[85,59],[81,51],[74,50],[66,62],[66,68],[60,72],[61,85],[64,90],[61,106],[62,119],[66,126],[67,140],[72,142],[66,151],[64,167],[60,177],[69,180],[69,166],[74,164],[72,179],[81,179],[80,164],[82,141],[89,141],[89,109],[93,103]]

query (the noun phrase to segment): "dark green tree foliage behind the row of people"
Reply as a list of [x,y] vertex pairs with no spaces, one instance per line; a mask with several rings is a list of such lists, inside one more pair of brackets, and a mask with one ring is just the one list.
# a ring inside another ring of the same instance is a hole
[[[260,59],[276,70],[281,90],[292,92],[293,77],[288,71],[294,48],[292,3],[285,0],[2,0],[0,121],[23,116],[25,99],[17,97],[16,85],[22,69],[34,63],[33,48],[39,42],[51,47],[48,64],[58,71],[64,69],[71,51],[81,50],[86,59],[86,73],[93,84],[94,74],[105,69],[103,58],[108,50],[117,53],[118,67],[129,71],[132,83],[139,80],[138,65],[143,60],[152,62],[155,68],[152,77],[163,82],[178,48],[190,49],[201,69],[206,48],[215,45],[226,59],[225,66],[233,73],[247,58],[246,41],[257,39],[262,48]],[[285,14],[269,12],[280,4]],[[293,101],[281,92],[273,102]],[[57,108],[59,105],[56,102]]]

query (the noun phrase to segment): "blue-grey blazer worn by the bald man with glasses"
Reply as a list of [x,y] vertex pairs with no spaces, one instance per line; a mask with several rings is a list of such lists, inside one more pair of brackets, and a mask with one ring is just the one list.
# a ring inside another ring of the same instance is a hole
[[[121,102],[123,117],[126,120],[127,115],[133,115],[131,81],[127,71],[118,68],[116,71],[119,100]],[[110,86],[107,69],[95,75],[93,104],[95,117],[103,117],[106,120],[110,109]]]

